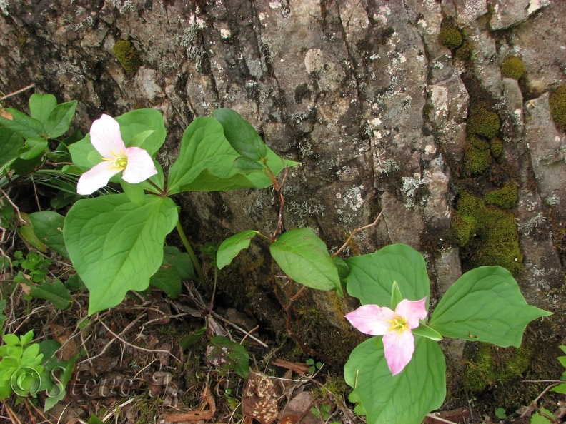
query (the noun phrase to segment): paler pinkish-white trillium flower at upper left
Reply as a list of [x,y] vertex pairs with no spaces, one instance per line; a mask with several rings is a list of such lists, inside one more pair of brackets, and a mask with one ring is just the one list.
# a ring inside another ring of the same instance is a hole
[[155,175],[157,169],[152,157],[143,148],[128,147],[124,144],[120,133],[120,124],[108,115],[102,115],[92,123],[91,143],[102,156],[101,163],[93,166],[79,178],[76,192],[92,194],[106,186],[110,178],[122,173],[124,181],[136,184]]

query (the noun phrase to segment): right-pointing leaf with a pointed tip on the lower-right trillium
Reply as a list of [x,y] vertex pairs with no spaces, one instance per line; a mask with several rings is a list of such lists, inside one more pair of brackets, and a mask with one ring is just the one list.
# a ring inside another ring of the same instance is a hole
[[530,306],[515,278],[500,266],[481,266],[457,279],[440,299],[429,326],[445,337],[520,347],[530,321],[550,312]]

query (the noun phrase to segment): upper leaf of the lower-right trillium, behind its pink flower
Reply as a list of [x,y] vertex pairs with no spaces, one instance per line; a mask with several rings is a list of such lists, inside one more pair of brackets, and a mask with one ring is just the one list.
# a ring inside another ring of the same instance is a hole
[[422,255],[406,244],[392,244],[379,251],[347,258],[347,291],[362,305],[389,307],[392,284],[397,281],[404,299],[419,301],[428,296],[430,282]]

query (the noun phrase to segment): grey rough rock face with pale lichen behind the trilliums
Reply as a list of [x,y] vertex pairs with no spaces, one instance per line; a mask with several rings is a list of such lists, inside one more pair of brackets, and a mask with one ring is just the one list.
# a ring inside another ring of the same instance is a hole
[[[85,132],[103,112],[158,108],[169,131],[165,167],[195,116],[234,108],[274,151],[302,162],[284,191],[287,228],[309,226],[337,248],[382,210],[382,223],[361,233],[352,251],[387,243],[417,248],[435,296],[477,263],[473,243],[461,249],[451,229],[462,186],[482,193],[512,181],[519,193],[511,210],[517,261],[524,264],[517,281],[527,301],[557,313],[553,330],[535,326],[532,343],[565,336],[557,293],[564,284],[565,140],[548,103],[565,82],[564,1],[496,0],[489,8],[485,0],[61,3],[0,0],[4,93],[34,83],[60,101],[78,99]],[[458,59],[440,42],[446,24],[465,34],[471,58]],[[119,39],[139,52],[133,73],[113,54]],[[526,66],[519,81],[501,74],[507,56]],[[9,106],[25,107],[26,99]],[[503,152],[470,176],[463,164],[467,116],[479,105],[499,116]],[[277,218],[269,191],[191,193],[179,201],[195,244],[249,228],[269,233]],[[280,331],[285,316],[272,294],[265,248],[252,248],[221,276],[222,292]],[[341,363],[347,353],[333,348],[353,337],[342,320],[349,306],[321,293],[307,297],[322,316],[309,317],[304,302],[302,337]],[[309,334],[307,327],[317,329]],[[450,349],[456,363],[461,349]],[[537,355],[533,360],[541,360]]]

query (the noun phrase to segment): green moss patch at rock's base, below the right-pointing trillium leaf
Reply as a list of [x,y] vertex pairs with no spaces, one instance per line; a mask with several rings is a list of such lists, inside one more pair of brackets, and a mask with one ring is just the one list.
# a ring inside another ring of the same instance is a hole
[[502,349],[478,343],[477,349],[467,358],[465,385],[469,390],[478,392],[490,385],[520,378],[529,368],[533,353],[530,345]]

